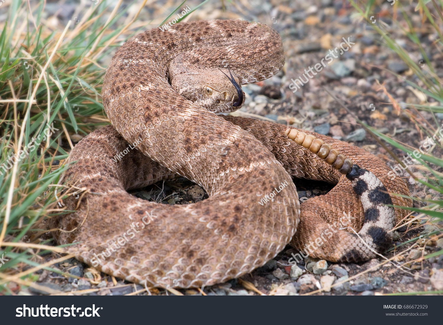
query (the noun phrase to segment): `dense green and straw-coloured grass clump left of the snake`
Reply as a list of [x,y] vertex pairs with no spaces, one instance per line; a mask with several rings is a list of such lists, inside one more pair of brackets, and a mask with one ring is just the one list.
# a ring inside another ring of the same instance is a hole
[[[120,8],[122,0],[92,2],[64,30],[45,19],[43,0],[34,8],[26,0],[2,6],[8,18],[0,35],[0,294],[14,294],[9,281],[38,287],[34,271],[61,273],[51,264],[72,257],[44,263],[54,258],[51,251],[62,251],[47,245],[45,222],[68,212],[54,192],[68,168],[71,137],[109,124],[101,61],[145,28],[131,27],[147,0],[138,2],[135,13]],[[117,23],[122,17],[124,25]]]

